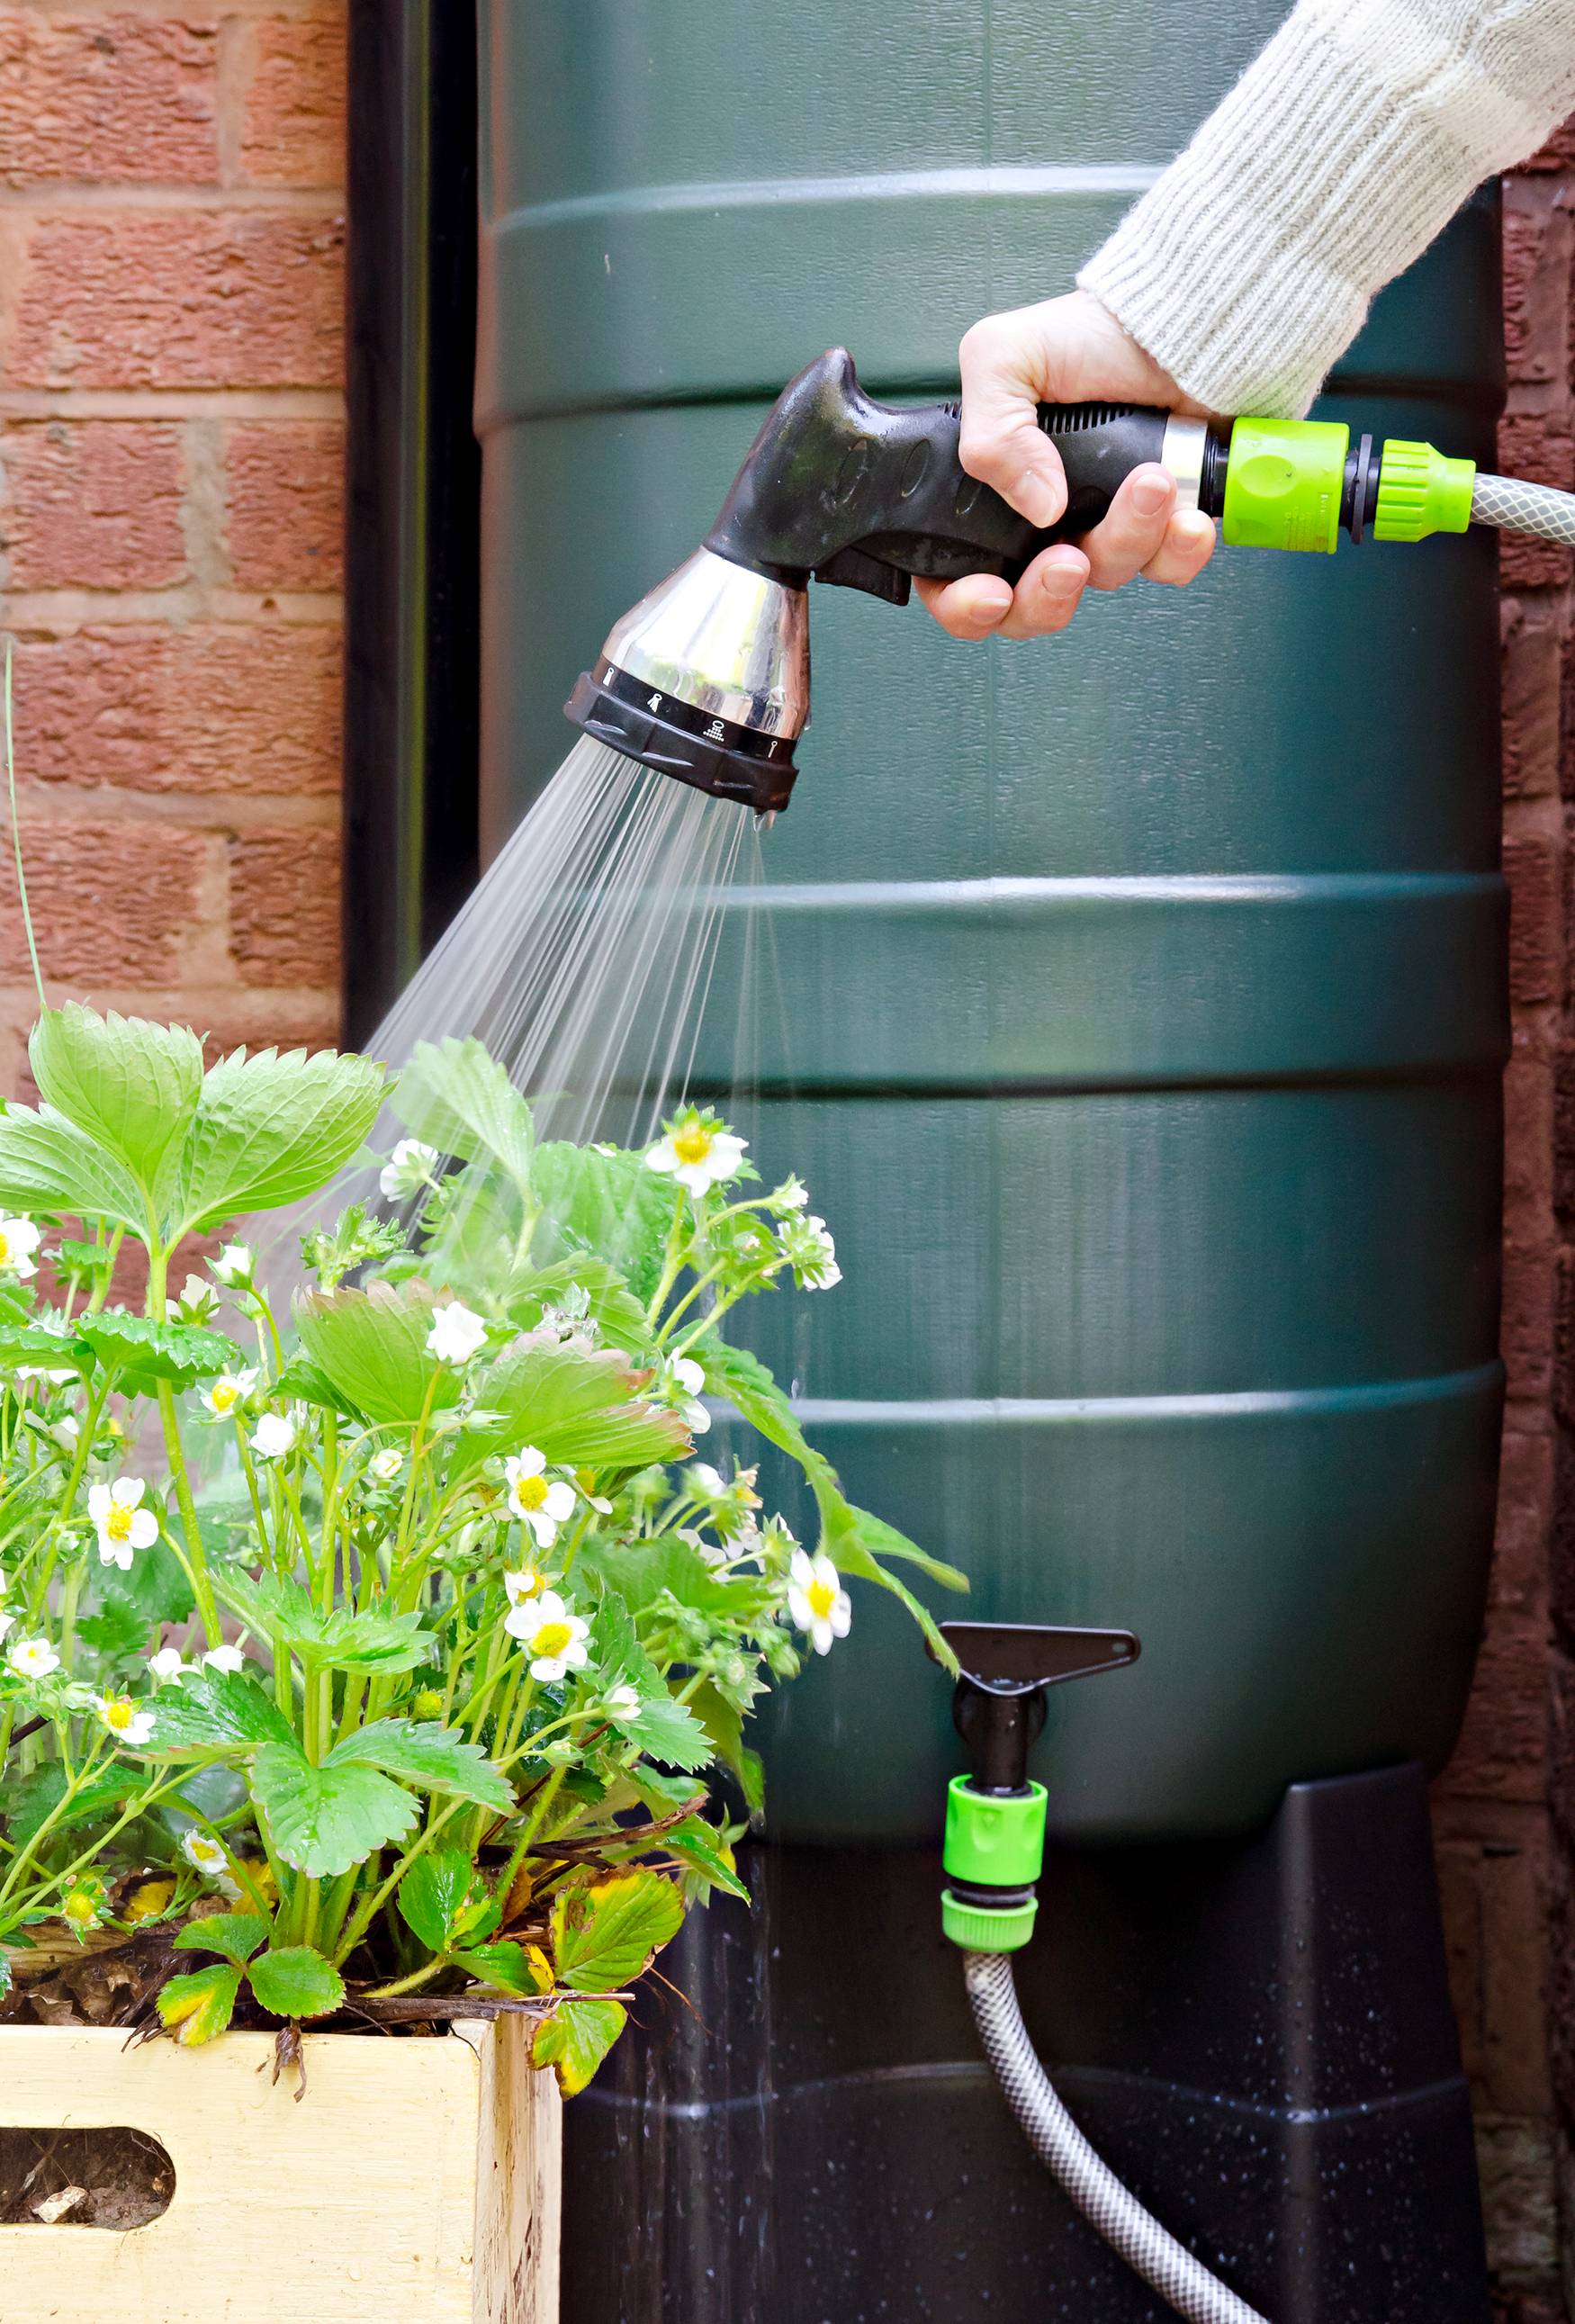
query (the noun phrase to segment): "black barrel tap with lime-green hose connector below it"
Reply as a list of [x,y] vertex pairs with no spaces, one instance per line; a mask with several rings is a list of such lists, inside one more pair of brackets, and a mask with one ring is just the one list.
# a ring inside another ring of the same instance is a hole
[[952,1722],[973,1759],[945,1792],[941,1927],[964,1952],[1017,1952],[1034,1934],[1045,1862],[1048,1794],[1029,1780],[1045,1694],[1122,1671],[1141,1648],[1129,1629],[1031,1622],[943,1622],[941,1636],[959,1662]]

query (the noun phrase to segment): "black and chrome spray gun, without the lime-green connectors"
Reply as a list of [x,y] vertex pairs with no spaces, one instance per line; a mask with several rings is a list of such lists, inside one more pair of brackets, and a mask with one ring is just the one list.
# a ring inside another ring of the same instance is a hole
[[[957,458],[957,404],[892,409],[834,346],[783,388],[688,565],[625,614],[567,702],[574,725],[662,774],[788,804],[808,725],[808,583],[906,604],[913,574],[1006,574],[1087,532],[1122,476],[1166,460],[1199,504],[1215,453],[1199,421],[1136,404],[1043,407],[1066,514],[1034,532]],[[1182,479],[1185,472],[1185,479]]]

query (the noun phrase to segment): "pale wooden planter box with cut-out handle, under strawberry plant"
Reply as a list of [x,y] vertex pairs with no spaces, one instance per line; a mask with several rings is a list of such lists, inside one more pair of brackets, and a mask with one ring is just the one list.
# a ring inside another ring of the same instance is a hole
[[146,2131],[170,2210],[0,2226],[5,2324],[558,2324],[560,2101],[520,2017],[446,2040],[269,2033],[207,2050],[0,2029],[0,2122]]

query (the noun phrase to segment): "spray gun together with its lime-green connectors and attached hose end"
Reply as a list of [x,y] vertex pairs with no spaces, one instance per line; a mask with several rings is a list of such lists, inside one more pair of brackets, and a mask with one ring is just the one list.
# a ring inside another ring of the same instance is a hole
[[1066,511],[1034,530],[969,476],[959,407],[873,402],[834,346],[783,390],[704,544],[623,616],[567,716],[625,758],[757,813],[788,806],[808,725],[808,583],[906,604],[913,576],[1015,581],[1073,541],[1145,462],[1229,546],[1324,551],[1496,525],[1575,544],[1575,493],[1477,472],[1338,421],[1199,421],[1141,404],[1041,404]]

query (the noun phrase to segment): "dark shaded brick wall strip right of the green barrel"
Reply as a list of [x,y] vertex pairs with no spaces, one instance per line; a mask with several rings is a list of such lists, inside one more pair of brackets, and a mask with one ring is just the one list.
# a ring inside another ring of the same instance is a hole
[[[1575,135],[1505,179],[1501,467],[1575,486],[1570,349]],[[1575,1027],[1566,913],[1575,693],[1566,686],[1570,555],[1503,546],[1503,853],[1512,892],[1515,1053],[1505,1083],[1510,1373],[1498,1557],[1461,1748],[1436,1792],[1438,1864],[1466,2066],[1477,2099],[1489,2250],[1505,2324],[1563,2324],[1559,2185],[1575,2124],[1568,2020],[1575,1841],[1556,1703],[1575,1650],[1575,1415],[1568,1385],[1575,1243]],[[1549,2050],[1554,2064],[1549,2071]],[[1556,2094],[1554,2094],[1556,2092]],[[1566,2201],[1566,2210],[1568,2210]],[[1568,2259],[1566,2259],[1568,2273]],[[1573,2273],[1575,2282],[1575,2273]]]

